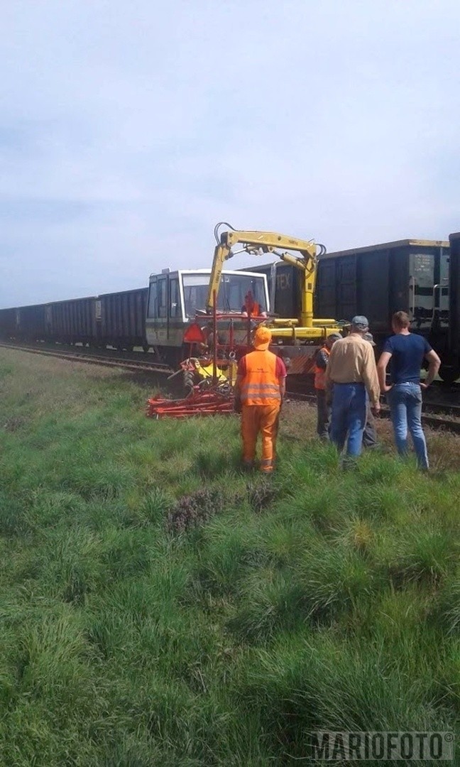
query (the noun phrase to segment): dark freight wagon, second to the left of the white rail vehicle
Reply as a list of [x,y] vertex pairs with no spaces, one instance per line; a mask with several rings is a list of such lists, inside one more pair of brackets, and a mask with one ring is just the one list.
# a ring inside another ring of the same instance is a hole
[[95,344],[97,342],[97,298],[73,298],[45,306],[47,341],[61,344]]

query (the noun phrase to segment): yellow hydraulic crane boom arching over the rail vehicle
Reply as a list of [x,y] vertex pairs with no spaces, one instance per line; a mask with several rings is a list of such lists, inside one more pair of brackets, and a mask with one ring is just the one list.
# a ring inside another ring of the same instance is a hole
[[[301,269],[304,275],[301,324],[304,328],[313,328],[313,295],[317,270],[317,245],[315,242],[299,240],[287,235],[279,235],[276,232],[237,232],[235,229],[231,232],[222,232],[214,251],[206,310],[210,312],[214,308],[214,300],[218,295],[224,262],[235,255],[232,253],[232,247],[237,244],[242,246],[242,250],[253,255],[274,253],[282,261]],[[278,249],[283,249],[284,252],[279,252]],[[322,249],[321,252],[325,252],[324,245],[320,245],[320,249]],[[299,255],[285,252],[286,250],[293,251],[294,253],[297,252]]]

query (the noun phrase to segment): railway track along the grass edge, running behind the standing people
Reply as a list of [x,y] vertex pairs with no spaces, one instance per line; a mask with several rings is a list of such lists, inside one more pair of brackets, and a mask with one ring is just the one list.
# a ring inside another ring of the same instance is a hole
[[[41,354],[47,357],[57,357],[62,360],[70,360],[72,362],[85,362],[87,364],[104,365],[107,367],[122,367],[124,370],[131,370],[139,373],[140,371],[146,373],[165,374],[171,376],[173,371],[167,364],[161,364],[159,362],[150,362],[149,360],[137,360],[136,357],[124,357],[117,356],[116,354],[110,354],[110,350],[107,350],[105,354],[93,353],[87,349],[87,347],[75,347],[71,351],[55,350],[49,347],[37,348],[35,346],[18,346],[17,344],[10,344],[8,342],[0,343],[0,347],[7,349],[15,349],[16,351],[26,351],[30,354]],[[131,352],[130,354],[136,354]],[[138,353],[141,356],[141,353]],[[145,356],[145,354],[143,354]],[[316,403],[316,397],[313,392],[298,391],[295,388],[293,390],[287,390],[287,401],[293,402],[305,402],[314,405]],[[455,403],[446,403],[439,401],[425,400],[423,403],[424,413],[422,414],[422,423],[426,426],[430,426],[432,429],[445,429],[454,433],[460,434],[460,405]],[[380,411],[381,416],[389,418],[389,408],[386,405],[382,406]],[[447,416],[447,417],[443,417]]]

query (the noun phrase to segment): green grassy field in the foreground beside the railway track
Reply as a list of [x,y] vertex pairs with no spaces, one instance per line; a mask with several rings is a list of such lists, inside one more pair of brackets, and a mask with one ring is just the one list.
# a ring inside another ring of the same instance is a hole
[[[155,421],[128,374],[0,350],[0,763],[308,764],[307,733],[452,729],[460,440],[340,472],[292,405]],[[369,762],[368,762],[369,763]]]

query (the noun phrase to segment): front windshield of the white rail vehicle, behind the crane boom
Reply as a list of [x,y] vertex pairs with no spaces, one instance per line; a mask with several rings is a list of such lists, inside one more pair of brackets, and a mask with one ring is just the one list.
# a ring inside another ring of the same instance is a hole
[[[182,275],[186,317],[195,317],[197,311],[204,311],[208,295],[209,275]],[[267,311],[265,301],[265,280],[263,275],[222,275],[217,297],[218,311],[245,311],[245,305],[255,301],[260,311]]]

